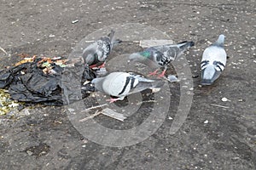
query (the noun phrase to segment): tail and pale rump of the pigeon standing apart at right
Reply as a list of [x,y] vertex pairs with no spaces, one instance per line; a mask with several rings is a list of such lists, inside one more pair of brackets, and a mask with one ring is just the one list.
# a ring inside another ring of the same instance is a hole
[[214,65],[207,65],[201,71],[201,85],[211,85],[220,75],[220,71],[216,71]]

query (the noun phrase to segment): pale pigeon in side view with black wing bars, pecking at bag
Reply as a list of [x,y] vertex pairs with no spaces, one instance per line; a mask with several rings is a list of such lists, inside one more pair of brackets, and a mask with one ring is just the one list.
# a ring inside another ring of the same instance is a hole
[[108,94],[110,103],[125,99],[129,94],[141,92],[147,88],[160,88],[164,82],[151,80],[132,72],[112,72],[106,77],[98,77],[91,81],[96,90]]

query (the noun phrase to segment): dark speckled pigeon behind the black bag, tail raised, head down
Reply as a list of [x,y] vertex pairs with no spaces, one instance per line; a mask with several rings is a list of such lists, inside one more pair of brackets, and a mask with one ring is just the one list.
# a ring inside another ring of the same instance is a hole
[[114,31],[112,30],[108,37],[101,37],[96,42],[91,43],[87,48],[84,48],[83,58],[86,65],[93,67],[104,67],[105,61],[113,48],[113,45],[121,42],[114,39]]

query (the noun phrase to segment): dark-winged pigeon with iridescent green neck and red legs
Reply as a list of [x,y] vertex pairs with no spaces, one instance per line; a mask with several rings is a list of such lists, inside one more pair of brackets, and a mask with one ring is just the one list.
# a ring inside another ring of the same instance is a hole
[[131,54],[129,59],[131,59],[131,61],[141,62],[154,69],[157,68],[154,72],[151,72],[149,76],[156,75],[160,67],[165,67],[164,71],[159,75],[159,77],[164,77],[167,65],[183,54],[187,48],[194,45],[195,42],[184,41],[177,44],[154,46],[145,49],[143,52]]

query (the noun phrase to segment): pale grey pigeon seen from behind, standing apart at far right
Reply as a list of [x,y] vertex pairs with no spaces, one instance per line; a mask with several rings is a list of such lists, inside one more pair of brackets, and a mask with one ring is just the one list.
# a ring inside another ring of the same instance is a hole
[[218,36],[218,40],[202,54],[201,59],[201,85],[211,85],[224,71],[227,54],[224,50],[224,35]]

